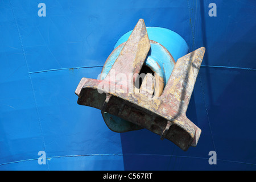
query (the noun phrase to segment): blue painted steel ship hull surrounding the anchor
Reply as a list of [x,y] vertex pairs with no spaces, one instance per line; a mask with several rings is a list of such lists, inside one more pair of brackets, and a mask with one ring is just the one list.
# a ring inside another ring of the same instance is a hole
[[[0,1],[0,169],[255,170],[256,3],[216,0],[210,17],[212,2]],[[206,48],[187,111],[202,133],[186,152],[147,130],[114,133],[76,104],[81,77],[97,78],[140,18],[177,32],[189,52]]]

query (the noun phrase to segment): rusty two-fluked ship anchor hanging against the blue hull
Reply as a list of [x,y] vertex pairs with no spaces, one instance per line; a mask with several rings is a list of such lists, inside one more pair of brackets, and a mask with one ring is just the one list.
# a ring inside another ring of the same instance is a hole
[[[187,118],[186,111],[205,48],[180,57],[165,86],[158,73],[154,76],[147,73],[138,88],[135,82],[151,42],[144,20],[139,19],[108,75],[102,80],[81,79],[75,91],[79,96],[77,103],[125,119],[130,123],[126,131],[148,129],[186,151],[197,145],[201,134],[199,127]],[[106,124],[113,131],[123,132],[114,129],[113,123]]]

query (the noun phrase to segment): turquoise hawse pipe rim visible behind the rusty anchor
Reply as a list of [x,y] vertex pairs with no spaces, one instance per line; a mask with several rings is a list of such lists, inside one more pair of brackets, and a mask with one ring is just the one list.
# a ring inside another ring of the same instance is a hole
[[[144,65],[149,67],[153,72],[158,73],[160,77],[163,77],[164,86],[171,76],[174,69],[175,62],[180,57],[188,53],[188,44],[185,40],[176,32],[161,27],[146,27],[148,39],[150,39],[150,51],[147,58],[144,61]],[[127,32],[114,46],[114,51],[106,60],[104,67],[102,68],[100,80],[103,80],[112,68],[119,53],[122,51],[123,46],[132,31]],[[122,45],[121,45],[122,44]],[[171,54],[171,55],[170,55]],[[157,66],[160,65],[160,68]],[[125,119],[119,118],[109,113],[102,113],[102,117],[106,125],[110,130],[115,132],[126,132],[131,130],[138,130],[141,127],[134,125]]]

